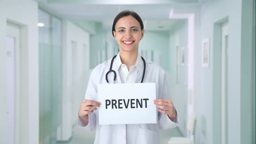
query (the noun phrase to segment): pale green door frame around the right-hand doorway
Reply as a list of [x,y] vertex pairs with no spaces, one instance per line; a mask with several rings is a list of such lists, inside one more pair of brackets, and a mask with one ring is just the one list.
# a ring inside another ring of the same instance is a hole
[[[219,131],[222,131],[222,106],[216,105],[222,104],[222,25],[228,21],[229,17],[226,16],[213,25],[213,143],[222,143],[222,133],[219,133]],[[228,140],[227,136],[226,140]]]

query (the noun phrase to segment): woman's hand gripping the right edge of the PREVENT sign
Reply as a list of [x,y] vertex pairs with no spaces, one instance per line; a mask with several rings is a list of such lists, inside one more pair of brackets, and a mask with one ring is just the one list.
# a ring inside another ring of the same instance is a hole
[[176,109],[173,106],[172,100],[155,99],[154,104],[158,106],[158,111],[161,113],[166,113],[171,121],[173,121],[177,117]]

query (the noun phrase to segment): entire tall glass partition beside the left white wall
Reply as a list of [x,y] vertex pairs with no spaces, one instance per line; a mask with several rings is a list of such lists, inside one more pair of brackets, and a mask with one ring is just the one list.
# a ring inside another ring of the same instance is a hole
[[49,143],[61,125],[61,20],[38,11],[39,27],[39,141]]

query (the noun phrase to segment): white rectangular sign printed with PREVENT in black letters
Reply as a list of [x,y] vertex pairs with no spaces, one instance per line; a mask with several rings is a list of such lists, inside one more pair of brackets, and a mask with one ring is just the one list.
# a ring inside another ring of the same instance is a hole
[[156,123],[155,83],[98,85],[99,124]]

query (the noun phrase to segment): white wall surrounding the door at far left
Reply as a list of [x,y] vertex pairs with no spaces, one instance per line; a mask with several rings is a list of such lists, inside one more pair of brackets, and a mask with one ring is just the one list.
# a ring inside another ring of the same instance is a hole
[[20,143],[38,143],[38,5],[36,1],[0,1],[0,143],[7,143],[5,37],[7,21],[21,27],[21,133]]

